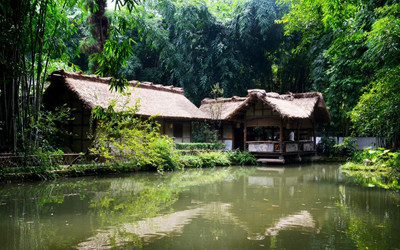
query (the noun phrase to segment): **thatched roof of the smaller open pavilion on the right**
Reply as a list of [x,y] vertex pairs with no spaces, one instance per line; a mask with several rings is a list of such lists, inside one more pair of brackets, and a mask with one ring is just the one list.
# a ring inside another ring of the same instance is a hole
[[[247,97],[204,99],[200,110],[212,117],[212,110],[216,107],[221,110],[221,119],[229,120],[249,102],[262,101],[278,112],[282,118],[307,119],[314,117],[317,122],[328,123],[330,116],[321,93],[298,93],[279,95],[277,93],[266,93],[265,90],[248,90]],[[218,105],[216,105],[218,104]]]

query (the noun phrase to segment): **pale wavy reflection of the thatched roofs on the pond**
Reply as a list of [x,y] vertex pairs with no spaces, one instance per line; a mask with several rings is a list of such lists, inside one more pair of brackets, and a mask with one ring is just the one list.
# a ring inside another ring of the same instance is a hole
[[[247,231],[249,234],[247,239],[249,240],[263,240],[265,236],[278,235],[282,230],[318,232],[312,215],[308,211],[303,210],[299,213],[280,218],[271,227],[266,228],[264,232],[258,231],[257,233],[252,233],[250,230],[251,226],[248,226],[246,222],[241,221],[232,214],[229,211],[230,208],[231,205],[228,203],[212,202],[197,208],[148,218],[134,223],[125,223],[116,228],[98,231],[93,237],[79,243],[77,248],[106,249],[109,248],[111,240],[115,242],[115,246],[123,247],[124,243],[131,240],[126,235],[136,235],[141,240],[150,242],[155,239],[171,236],[172,234],[182,234],[183,227],[199,216],[203,216],[210,221],[223,220],[225,223],[232,222],[234,225],[238,225]],[[121,232],[122,234],[120,234]]]

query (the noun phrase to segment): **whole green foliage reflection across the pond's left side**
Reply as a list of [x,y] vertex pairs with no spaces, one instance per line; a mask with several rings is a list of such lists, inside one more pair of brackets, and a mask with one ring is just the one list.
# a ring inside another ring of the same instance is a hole
[[0,242],[5,248],[69,248],[98,228],[170,209],[186,187],[245,174],[235,172],[221,168],[7,186],[0,189]]

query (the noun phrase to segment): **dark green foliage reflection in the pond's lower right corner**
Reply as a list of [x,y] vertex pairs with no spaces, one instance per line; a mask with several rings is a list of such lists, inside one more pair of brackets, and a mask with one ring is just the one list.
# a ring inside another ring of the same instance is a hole
[[394,236],[394,232],[399,231],[400,221],[398,195],[374,189],[357,192],[345,186],[340,186],[339,190],[341,199],[338,206],[348,221],[345,233],[358,249],[392,249],[399,246],[400,241]]

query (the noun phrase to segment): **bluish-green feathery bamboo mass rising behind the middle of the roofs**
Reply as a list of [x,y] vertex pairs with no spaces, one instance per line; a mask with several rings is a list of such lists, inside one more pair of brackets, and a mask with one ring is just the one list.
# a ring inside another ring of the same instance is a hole
[[135,53],[121,76],[181,86],[196,104],[216,82],[225,96],[279,91],[271,67],[283,30],[274,1],[146,1],[135,13],[126,33]]

